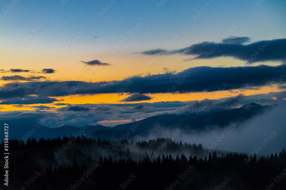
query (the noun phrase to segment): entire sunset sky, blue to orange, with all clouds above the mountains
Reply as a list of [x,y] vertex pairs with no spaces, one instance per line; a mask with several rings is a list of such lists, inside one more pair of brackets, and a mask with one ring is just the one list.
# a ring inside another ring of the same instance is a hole
[[285,101],[286,2],[259,3],[1,1],[0,116],[114,126]]

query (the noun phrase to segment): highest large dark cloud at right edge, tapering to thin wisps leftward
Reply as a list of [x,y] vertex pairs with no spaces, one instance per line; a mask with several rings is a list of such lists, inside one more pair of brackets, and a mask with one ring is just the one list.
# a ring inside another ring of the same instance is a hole
[[[163,49],[156,49],[141,53],[143,55],[194,55],[196,56],[194,59],[233,57],[239,60],[247,61],[248,64],[265,61],[285,62],[286,39],[263,40],[248,45],[241,44],[247,41],[249,41],[249,38],[247,37],[228,38],[225,39],[223,43],[202,42],[178,50],[167,51]],[[256,55],[255,52],[257,52]]]

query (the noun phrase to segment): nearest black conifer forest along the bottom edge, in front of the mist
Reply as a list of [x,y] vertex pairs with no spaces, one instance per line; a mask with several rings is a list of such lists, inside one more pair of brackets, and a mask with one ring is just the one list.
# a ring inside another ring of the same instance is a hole
[[[245,162],[245,159],[250,161]],[[181,154],[176,157],[162,155],[152,160],[146,154],[142,160],[132,158],[114,160],[109,155],[97,162],[88,158],[86,162],[90,165],[80,165],[74,160],[69,166],[47,167],[41,187],[138,190],[227,187],[227,189],[253,190],[264,189],[271,183],[275,184],[275,189],[283,189],[286,185],[286,175],[284,179],[280,175],[286,166],[284,149],[279,156],[271,154],[269,158],[258,159],[249,159],[246,154],[227,153],[218,156],[216,152],[212,152],[204,159],[196,156],[187,158]],[[91,169],[95,164],[96,168]],[[279,175],[280,178],[275,178]],[[84,180],[80,181],[81,178]]]

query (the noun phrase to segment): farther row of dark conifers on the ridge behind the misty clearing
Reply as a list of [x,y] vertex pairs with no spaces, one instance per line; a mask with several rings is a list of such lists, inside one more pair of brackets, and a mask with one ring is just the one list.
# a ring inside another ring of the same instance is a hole
[[[57,138],[40,138],[38,141],[35,138],[29,138],[26,142],[19,140],[19,139],[11,139],[8,140],[9,149],[10,150],[18,150],[18,149],[34,149],[34,148],[60,148],[63,146],[63,144],[66,144],[68,142],[72,142],[69,144],[73,144],[73,146],[100,146],[105,149],[121,149],[122,145],[128,146],[128,145],[134,145],[134,141],[131,140],[128,142],[128,140],[124,139],[122,141],[114,141],[114,140],[101,140],[100,138],[90,138],[86,136],[63,136],[63,138],[60,138],[59,136]],[[194,153],[201,152],[203,150],[202,144],[187,144],[186,142],[183,144],[182,141],[175,142],[172,141],[171,138],[156,138],[149,141],[138,141],[135,143],[136,148],[140,149],[154,149],[158,146],[162,146],[162,144],[168,145],[166,147],[166,150],[180,150],[180,149],[188,149],[192,150]],[[4,142],[2,140],[1,142],[1,149],[4,148]]]

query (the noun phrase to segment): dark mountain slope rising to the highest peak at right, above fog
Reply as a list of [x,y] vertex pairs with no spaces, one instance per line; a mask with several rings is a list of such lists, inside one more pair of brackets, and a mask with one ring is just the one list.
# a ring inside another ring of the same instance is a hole
[[[174,128],[175,126],[180,126],[184,129],[204,129],[205,126],[210,125],[224,127],[230,122],[234,122],[235,119],[244,121],[250,119],[256,114],[263,113],[272,107],[273,106],[262,106],[256,103],[250,103],[237,109],[220,111],[217,113],[156,115],[144,119],[143,122],[140,123],[140,125],[136,128],[136,132],[152,130],[156,126],[163,128]],[[114,126],[113,128],[116,130],[130,130],[130,127],[136,123],[138,123],[138,121],[127,124],[120,124]]]

